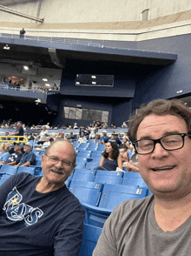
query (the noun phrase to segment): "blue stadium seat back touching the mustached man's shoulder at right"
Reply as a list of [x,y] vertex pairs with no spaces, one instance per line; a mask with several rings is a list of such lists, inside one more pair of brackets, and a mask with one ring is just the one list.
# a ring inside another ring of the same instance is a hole
[[102,193],[102,183],[87,182],[72,179],[69,191],[82,203],[98,205]]

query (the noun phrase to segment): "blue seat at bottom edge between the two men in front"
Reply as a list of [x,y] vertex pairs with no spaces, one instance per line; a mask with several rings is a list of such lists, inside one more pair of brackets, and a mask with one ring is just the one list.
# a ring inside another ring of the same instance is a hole
[[78,256],[92,255],[101,233],[102,228],[83,224],[82,245]]

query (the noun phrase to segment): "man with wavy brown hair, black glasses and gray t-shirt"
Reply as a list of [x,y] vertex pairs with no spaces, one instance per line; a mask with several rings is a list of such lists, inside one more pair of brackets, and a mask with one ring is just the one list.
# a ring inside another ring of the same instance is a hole
[[190,255],[190,122],[175,99],[155,100],[130,118],[128,136],[153,194],[115,207],[94,256]]

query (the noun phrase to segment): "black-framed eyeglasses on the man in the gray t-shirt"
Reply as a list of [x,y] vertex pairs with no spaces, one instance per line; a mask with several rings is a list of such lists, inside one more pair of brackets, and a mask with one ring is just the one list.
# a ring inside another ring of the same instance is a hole
[[147,155],[155,151],[155,145],[159,143],[167,151],[175,151],[184,146],[184,138],[190,136],[188,133],[176,133],[163,136],[158,139],[142,138],[135,140],[133,145],[135,152],[140,155]]

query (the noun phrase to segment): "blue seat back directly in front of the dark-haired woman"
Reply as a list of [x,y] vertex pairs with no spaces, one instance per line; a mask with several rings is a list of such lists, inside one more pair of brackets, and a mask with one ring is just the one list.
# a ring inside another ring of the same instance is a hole
[[120,185],[124,172],[111,172],[98,170],[95,175],[95,182]]

